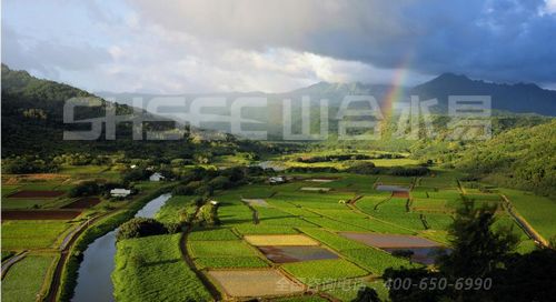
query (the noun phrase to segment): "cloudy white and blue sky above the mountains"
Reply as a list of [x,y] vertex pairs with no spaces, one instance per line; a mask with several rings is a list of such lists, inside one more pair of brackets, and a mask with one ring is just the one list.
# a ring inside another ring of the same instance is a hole
[[2,62],[88,91],[414,85],[443,72],[556,89],[556,0],[3,0]]

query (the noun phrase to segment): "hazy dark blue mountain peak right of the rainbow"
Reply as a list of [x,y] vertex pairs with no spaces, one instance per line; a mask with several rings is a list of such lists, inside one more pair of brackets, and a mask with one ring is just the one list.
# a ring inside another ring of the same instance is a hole
[[409,93],[419,95],[420,100],[436,98],[444,109],[448,105],[448,95],[490,95],[495,110],[556,115],[556,91],[533,83],[490,83],[444,73],[414,87]]

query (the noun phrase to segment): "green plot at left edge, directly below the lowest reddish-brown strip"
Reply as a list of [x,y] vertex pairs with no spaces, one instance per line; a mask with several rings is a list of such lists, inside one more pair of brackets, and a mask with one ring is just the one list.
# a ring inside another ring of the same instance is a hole
[[51,248],[72,224],[64,221],[2,221],[2,249],[24,250]]

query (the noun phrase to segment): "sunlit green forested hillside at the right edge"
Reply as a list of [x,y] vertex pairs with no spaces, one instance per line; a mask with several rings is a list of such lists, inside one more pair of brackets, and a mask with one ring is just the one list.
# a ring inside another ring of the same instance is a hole
[[556,120],[475,145],[456,167],[502,185],[556,197]]

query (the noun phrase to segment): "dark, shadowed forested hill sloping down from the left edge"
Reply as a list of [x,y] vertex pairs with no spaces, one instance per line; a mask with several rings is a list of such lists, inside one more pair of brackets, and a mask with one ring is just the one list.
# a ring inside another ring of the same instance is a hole
[[[63,123],[63,105],[68,99],[76,97],[90,97],[102,104],[76,110],[77,120],[105,115],[105,108],[109,102],[103,99],[68,84],[37,79],[26,71],[14,71],[2,64],[2,158],[48,158],[67,152],[99,154],[121,151],[137,158],[189,159],[196,153],[209,155],[210,152],[234,153],[240,148],[264,148],[261,144],[240,142],[234,137],[214,132],[208,134],[222,137],[218,148],[190,133],[185,133],[183,139],[178,141],[133,141],[130,122],[118,124],[116,140],[105,140],[101,135],[96,141],[64,141],[63,130],[71,128]],[[150,115],[145,111],[133,112],[129,105],[115,105],[117,114]],[[148,122],[143,130],[165,130],[171,129],[170,127],[173,128],[173,122]],[[203,134],[202,131],[196,133]]]

